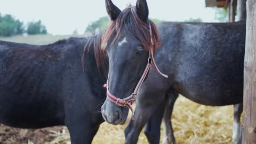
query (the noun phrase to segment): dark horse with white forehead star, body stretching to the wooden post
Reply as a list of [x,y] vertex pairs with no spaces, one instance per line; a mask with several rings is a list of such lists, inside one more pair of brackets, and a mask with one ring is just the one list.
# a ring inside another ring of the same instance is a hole
[[[245,21],[163,22],[155,27],[148,19],[146,0],[137,0],[136,6],[129,5],[123,11],[106,0],[106,8],[112,22],[101,46],[109,56],[109,92],[120,99],[133,93],[148,63],[149,51],[155,52],[158,68],[168,75],[165,78],[152,67],[139,91],[134,120],[125,128],[125,143],[135,144],[146,122],[156,123],[152,116],[163,116],[165,104],[170,110],[165,116],[170,118],[179,93],[204,105],[236,104],[233,139],[237,141],[243,102]],[[115,125],[125,122],[129,110],[109,99],[101,109],[104,119]],[[173,134],[168,142],[175,143]]]

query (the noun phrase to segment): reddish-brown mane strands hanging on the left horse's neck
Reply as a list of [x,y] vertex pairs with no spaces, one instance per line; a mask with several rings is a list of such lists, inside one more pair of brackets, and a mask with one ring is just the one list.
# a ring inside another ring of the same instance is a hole
[[85,53],[88,53],[90,48],[93,47],[97,68],[99,69],[100,72],[103,72],[104,74],[108,72],[109,61],[108,61],[107,52],[101,50],[101,37],[102,37],[102,34],[94,35],[92,37],[89,37],[87,42],[85,43],[85,47],[83,48],[83,54],[81,58],[83,71],[84,71]]

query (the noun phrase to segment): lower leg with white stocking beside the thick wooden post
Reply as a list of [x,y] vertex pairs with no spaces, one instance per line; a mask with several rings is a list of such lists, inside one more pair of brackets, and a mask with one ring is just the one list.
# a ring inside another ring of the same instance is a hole
[[233,122],[233,136],[232,139],[235,144],[239,141],[240,131],[240,116],[243,112],[243,103],[234,105],[234,122]]

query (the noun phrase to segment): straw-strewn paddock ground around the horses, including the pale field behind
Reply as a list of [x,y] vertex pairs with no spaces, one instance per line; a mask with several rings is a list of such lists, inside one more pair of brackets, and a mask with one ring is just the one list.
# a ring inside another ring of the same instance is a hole
[[[0,40],[42,45],[69,36],[15,36],[0,37]],[[130,118],[131,114],[128,121]],[[232,144],[232,121],[233,106],[204,106],[189,101],[183,96],[177,99],[172,115],[177,144]],[[93,144],[116,144],[117,142],[123,144],[125,125],[114,126],[102,123],[93,139]],[[163,133],[161,133],[161,141],[162,139]],[[138,144],[147,143],[147,138],[142,131]],[[0,144],[70,144],[70,139],[67,128],[62,126],[27,130],[0,125]]]

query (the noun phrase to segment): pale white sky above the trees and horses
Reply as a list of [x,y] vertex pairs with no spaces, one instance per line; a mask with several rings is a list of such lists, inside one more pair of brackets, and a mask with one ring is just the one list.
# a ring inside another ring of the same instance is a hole
[[[136,0],[112,0],[121,10]],[[205,0],[147,0],[149,17],[164,21],[183,21],[201,18],[214,22],[215,10],[205,8]],[[0,0],[0,13],[17,19],[41,19],[48,33],[69,35],[77,28],[83,34],[91,21],[106,16],[105,0]]]

